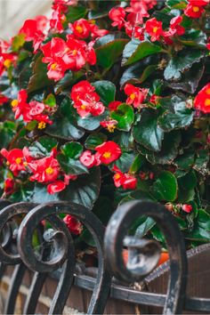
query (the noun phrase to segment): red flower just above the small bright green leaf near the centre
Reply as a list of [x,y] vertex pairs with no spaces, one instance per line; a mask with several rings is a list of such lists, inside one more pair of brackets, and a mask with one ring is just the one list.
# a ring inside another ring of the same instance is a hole
[[136,109],[145,101],[148,94],[148,89],[141,89],[130,84],[125,85],[124,91],[128,95],[126,103],[129,105],[133,104],[133,107]]

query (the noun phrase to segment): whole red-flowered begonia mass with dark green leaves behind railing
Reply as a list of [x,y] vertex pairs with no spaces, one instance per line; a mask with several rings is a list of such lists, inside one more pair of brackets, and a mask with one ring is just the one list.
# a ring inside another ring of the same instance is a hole
[[2,198],[71,200],[104,224],[147,198],[187,246],[210,241],[209,19],[210,0],[54,0],[0,40]]

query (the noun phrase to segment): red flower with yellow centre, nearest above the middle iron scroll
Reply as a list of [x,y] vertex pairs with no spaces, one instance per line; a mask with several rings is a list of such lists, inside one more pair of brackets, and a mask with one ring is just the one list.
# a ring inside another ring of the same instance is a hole
[[60,174],[59,162],[52,157],[33,160],[28,163],[28,167],[33,173],[30,176],[32,182],[54,182]]

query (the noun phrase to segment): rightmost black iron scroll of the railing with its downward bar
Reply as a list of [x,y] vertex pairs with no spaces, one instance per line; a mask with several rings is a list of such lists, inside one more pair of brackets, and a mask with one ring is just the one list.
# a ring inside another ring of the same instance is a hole
[[[105,233],[105,260],[108,264],[109,271],[113,273],[117,279],[127,282],[138,281],[145,277],[149,270],[152,271],[154,264],[150,260],[149,266],[145,268],[144,263],[148,263],[148,255],[152,256],[152,252],[147,250],[148,243],[140,243],[141,252],[139,261],[136,259],[130,262],[130,268],[127,268],[123,256],[124,238],[129,227],[134,220],[141,215],[149,216],[158,223],[158,227],[162,230],[169,252],[170,258],[170,279],[166,294],[166,303],[164,314],[180,314],[184,304],[184,297],[187,284],[187,257],[178,224],[175,222],[172,214],[166,211],[164,206],[150,202],[134,200],[125,203],[117,208],[112,215],[106,233]],[[134,242],[135,242],[134,238]],[[138,240],[140,242],[140,240]],[[129,244],[128,244],[129,246]],[[143,253],[142,253],[143,249]]]

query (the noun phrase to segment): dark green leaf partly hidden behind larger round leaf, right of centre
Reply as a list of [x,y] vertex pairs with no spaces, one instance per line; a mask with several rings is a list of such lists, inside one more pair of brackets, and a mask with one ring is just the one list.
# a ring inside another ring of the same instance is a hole
[[178,155],[178,148],[181,141],[180,131],[173,131],[171,133],[166,133],[162,143],[162,149],[160,152],[148,154],[146,158],[153,165],[155,164],[168,164],[174,161],[174,158]]

